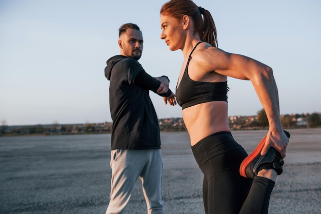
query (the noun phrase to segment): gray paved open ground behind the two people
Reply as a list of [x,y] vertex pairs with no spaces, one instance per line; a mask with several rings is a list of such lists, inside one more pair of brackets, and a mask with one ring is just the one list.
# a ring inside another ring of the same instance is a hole
[[[285,168],[270,214],[321,213],[321,129],[292,129]],[[265,130],[233,131],[248,152]],[[105,213],[109,200],[109,135],[0,138],[0,213]],[[167,214],[204,213],[202,173],[186,132],[162,133]],[[127,213],[146,213],[137,182]]]

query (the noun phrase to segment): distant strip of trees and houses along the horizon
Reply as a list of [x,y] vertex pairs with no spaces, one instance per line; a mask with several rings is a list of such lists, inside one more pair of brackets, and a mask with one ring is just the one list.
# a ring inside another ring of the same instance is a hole
[[[321,114],[285,114],[280,115],[284,128],[317,128],[321,127]],[[159,119],[160,131],[186,131],[182,118]],[[259,110],[253,116],[230,116],[229,125],[232,130],[267,129],[268,119],[264,109]],[[6,121],[1,121],[1,136],[16,135],[54,135],[54,134],[88,134],[88,133],[111,133],[112,122],[85,123],[85,124],[58,124],[57,121],[50,125],[32,126],[8,126]]]

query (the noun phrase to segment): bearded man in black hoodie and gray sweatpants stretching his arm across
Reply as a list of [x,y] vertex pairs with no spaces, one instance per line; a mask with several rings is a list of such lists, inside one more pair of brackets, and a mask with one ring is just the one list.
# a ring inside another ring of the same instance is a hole
[[105,76],[110,80],[113,121],[111,192],[106,214],[125,209],[138,177],[148,213],[164,214],[159,125],[149,90],[164,96],[172,106],[176,105],[175,94],[168,88],[166,76],[153,78],[138,63],[143,35],[137,25],[127,23],[119,28],[118,45],[121,55],[111,57],[105,68]]

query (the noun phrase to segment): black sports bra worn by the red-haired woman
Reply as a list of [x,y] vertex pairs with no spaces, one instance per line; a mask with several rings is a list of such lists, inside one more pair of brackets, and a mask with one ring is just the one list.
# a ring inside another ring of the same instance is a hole
[[178,82],[176,85],[176,100],[178,105],[182,106],[182,109],[211,101],[227,102],[227,81],[217,83],[197,82],[191,80],[188,75],[188,64],[190,62],[191,55],[199,43],[195,45],[189,55],[186,68],[178,88]]

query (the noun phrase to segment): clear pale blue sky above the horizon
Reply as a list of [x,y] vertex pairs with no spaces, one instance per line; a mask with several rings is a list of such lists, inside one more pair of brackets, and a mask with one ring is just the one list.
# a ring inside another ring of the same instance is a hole
[[[160,40],[159,10],[167,0],[0,0],[0,120],[6,125],[111,122],[106,61],[120,54],[118,28],[143,31],[139,63],[167,75],[175,91],[181,50]],[[321,112],[321,1],[204,1],[218,47],[273,69],[280,114]],[[263,107],[250,81],[228,78],[229,115]],[[159,119],[182,117],[150,93]]]

